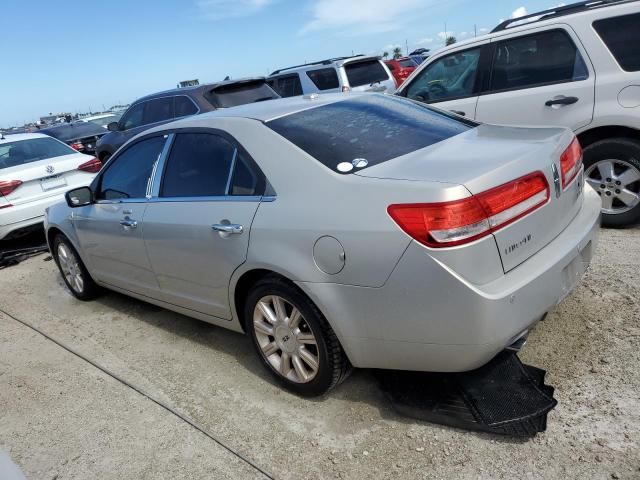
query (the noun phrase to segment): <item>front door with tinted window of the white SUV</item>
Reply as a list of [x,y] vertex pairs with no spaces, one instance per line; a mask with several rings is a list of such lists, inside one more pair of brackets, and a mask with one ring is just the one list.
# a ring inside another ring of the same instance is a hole
[[482,58],[483,46],[476,46],[429,59],[429,64],[410,77],[399,94],[475,119]]

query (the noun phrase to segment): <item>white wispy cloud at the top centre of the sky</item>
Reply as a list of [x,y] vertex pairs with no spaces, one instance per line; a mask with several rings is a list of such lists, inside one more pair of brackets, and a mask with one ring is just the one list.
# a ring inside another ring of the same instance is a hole
[[406,15],[424,11],[429,0],[395,0],[389,8],[388,0],[314,0],[313,18],[302,28],[302,33],[351,29],[352,33],[389,32],[402,28]]

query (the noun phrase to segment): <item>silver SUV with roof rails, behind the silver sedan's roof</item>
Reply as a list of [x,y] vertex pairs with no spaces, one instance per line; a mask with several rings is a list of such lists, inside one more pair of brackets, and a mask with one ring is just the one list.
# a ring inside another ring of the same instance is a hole
[[393,75],[380,57],[358,55],[281,68],[267,81],[281,97],[330,92],[393,92]]

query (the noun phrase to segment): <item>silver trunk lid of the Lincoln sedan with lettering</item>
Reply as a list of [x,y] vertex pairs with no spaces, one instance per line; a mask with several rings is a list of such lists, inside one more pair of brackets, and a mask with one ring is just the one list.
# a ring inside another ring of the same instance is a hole
[[[564,128],[480,125],[448,140],[357,173],[363,177],[464,185],[479,194],[535,171],[549,184],[547,204],[493,234],[508,272],[537,253],[571,222],[582,204],[582,174],[559,195],[554,169],[573,139]],[[555,167],[554,167],[555,166]]]

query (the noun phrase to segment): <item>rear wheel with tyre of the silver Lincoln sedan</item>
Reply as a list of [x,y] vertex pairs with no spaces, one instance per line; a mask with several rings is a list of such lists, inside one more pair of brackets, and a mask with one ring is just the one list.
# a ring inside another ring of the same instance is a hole
[[342,382],[351,366],[317,307],[278,278],[258,282],[245,303],[246,327],[262,363],[288,390],[317,396]]

